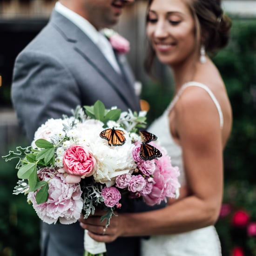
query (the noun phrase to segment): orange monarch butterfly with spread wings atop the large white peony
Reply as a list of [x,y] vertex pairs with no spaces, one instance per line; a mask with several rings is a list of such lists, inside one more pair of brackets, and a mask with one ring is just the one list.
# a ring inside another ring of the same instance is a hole
[[100,133],[102,139],[108,141],[109,146],[122,146],[126,139],[124,132],[121,130],[115,130],[114,128],[108,128]]

